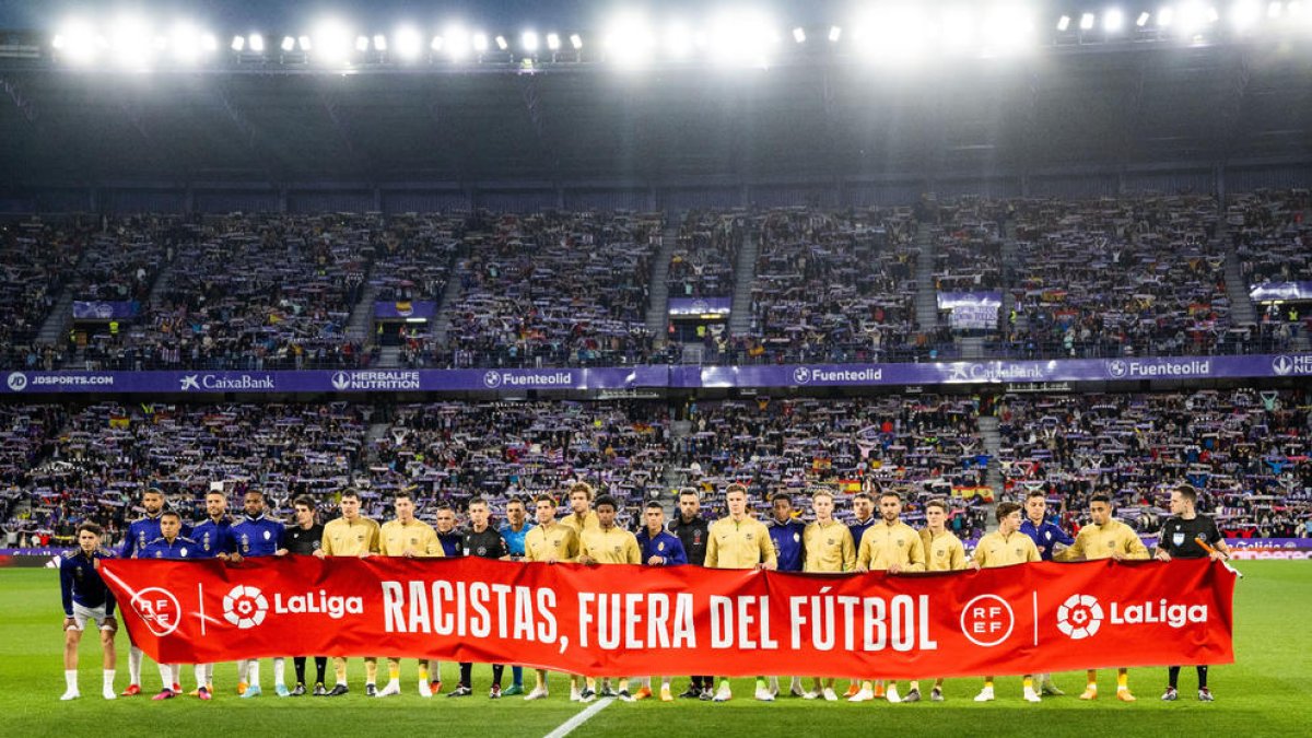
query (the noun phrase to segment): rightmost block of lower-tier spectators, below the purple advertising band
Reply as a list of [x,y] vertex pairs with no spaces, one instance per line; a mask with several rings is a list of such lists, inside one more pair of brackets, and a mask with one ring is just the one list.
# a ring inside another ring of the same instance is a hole
[[1096,491],[1153,533],[1170,488],[1199,490],[1227,536],[1294,537],[1312,519],[1312,395],[1305,390],[1012,395],[997,415],[1014,495],[1048,494],[1071,525]]

